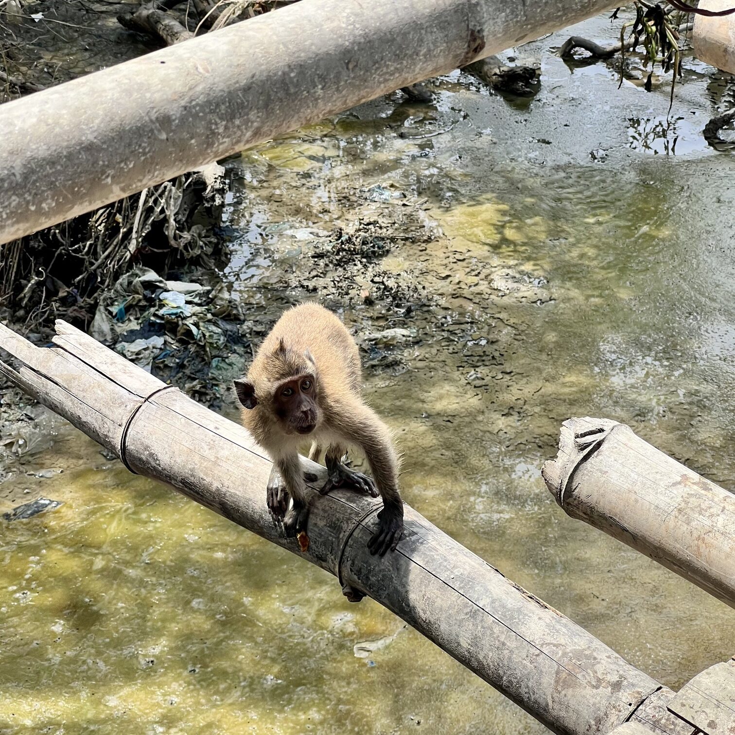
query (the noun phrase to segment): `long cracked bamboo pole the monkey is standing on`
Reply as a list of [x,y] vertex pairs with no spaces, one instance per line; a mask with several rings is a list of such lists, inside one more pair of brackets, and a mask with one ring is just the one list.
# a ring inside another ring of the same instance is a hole
[[[62,321],[53,342],[37,348],[0,325],[0,348],[19,363],[15,370],[0,362],[0,373],[130,470],[167,482],[370,595],[552,731],[603,734],[631,721],[692,735],[666,714],[670,689],[409,506],[398,550],[373,557],[367,542],[381,503],[348,490],[314,492],[310,545],[300,553],[268,516],[270,461],[245,429]],[[304,466],[323,470],[306,460]]]

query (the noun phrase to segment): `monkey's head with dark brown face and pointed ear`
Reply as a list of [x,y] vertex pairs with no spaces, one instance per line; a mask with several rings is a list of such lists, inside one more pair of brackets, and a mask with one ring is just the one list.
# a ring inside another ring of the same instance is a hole
[[285,434],[311,434],[318,426],[318,376],[308,350],[292,350],[280,340],[262,365],[251,368],[247,379],[234,381],[234,387],[246,409],[259,406]]

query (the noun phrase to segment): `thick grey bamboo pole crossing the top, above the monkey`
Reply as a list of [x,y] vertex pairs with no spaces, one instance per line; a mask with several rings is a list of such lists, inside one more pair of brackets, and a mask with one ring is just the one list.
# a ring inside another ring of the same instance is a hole
[[0,244],[615,0],[302,0],[0,106]]

